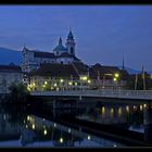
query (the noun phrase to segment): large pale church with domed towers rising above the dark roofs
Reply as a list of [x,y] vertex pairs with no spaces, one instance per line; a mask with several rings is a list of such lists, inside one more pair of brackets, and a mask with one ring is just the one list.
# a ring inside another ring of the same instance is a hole
[[43,63],[71,64],[80,61],[75,55],[75,45],[73,33],[69,30],[65,47],[60,37],[59,43],[52,52],[30,50],[24,47],[22,51],[22,71],[29,73],[33,69],[37,69]]

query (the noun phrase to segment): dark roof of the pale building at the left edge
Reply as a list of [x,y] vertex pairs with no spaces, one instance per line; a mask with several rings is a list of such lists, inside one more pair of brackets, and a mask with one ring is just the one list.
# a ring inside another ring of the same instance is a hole
[[17,65],[0,65],[0,72],[22,72],[22,68]]

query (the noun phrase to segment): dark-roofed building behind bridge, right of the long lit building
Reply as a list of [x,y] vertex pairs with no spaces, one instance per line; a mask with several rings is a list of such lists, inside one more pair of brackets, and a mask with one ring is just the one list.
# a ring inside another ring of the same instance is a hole
[[116,66],[103,66],[97,63],[89,69],[92,89],[127,89],[129,74]]

